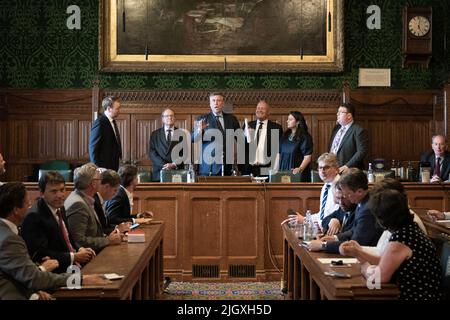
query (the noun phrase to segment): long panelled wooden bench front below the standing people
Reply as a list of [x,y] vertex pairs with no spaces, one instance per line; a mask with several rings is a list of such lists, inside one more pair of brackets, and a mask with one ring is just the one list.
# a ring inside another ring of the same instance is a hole
[[[233,178],[233,177],[227,177]],[[280,280],[289,208],[319,210],[321,183],[142,183],[133,213],[164,221],[164,270],[177,280]],[[450,184],[405,183],[412,207],[450,211]],[[67,193],[73,185],[67,185]],[[39,196],[28,183],[31,199]]]

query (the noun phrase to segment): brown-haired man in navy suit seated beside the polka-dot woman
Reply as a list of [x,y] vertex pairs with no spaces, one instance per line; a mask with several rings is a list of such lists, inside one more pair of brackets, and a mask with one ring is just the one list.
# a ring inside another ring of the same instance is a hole
[[341,176],[338,185],[343,197],[351,203],[357,204],[351,228],[337,235],[313,240],[309,249],[338,253],[341,243],[348,240],[355,240],[363,246],[375,246],[383,230],[370,212],[370,208],[367,207],[369,201],[367,176],[357,168],[350,168]]

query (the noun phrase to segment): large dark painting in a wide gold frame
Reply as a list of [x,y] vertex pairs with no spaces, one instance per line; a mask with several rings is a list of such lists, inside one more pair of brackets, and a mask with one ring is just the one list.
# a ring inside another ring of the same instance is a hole
[[340,72],[343,0],[101,0],[105,72]]

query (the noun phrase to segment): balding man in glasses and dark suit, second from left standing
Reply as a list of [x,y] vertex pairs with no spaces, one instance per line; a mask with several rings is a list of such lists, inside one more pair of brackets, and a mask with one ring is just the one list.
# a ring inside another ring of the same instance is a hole
[[[172,159],[172,150],[178,144],[181,143],[185,137],[183,136],[180,141],[173,140],[174,133],[178,130],[175,124],[175,113],[171,109],[166,109],[161,114],[162,128],[159,128],[152,132],[149,141],[149,158],[152,160],[152,180],[155,182],[160,181],[160,171],[177,169],[178,166],[182,166],[183,159],[178,157]],[[177,131],[177,134],[181,130]]]

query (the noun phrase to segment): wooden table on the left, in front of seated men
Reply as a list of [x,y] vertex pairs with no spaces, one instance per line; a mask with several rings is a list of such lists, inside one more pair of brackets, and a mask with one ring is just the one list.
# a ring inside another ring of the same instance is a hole
[[83,269],[83,274],[117,273],[122,280],[106,286],[91,286],[69,290],[62,288],[53,295],[56,299],[156,299],[163,282],[164,224],[141,225],[144,243],[122,243],[108,246]]

